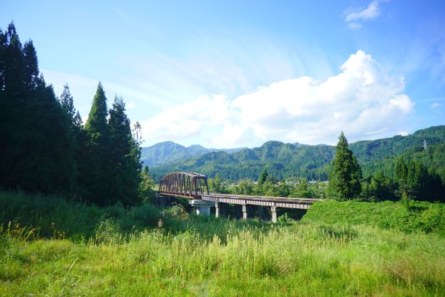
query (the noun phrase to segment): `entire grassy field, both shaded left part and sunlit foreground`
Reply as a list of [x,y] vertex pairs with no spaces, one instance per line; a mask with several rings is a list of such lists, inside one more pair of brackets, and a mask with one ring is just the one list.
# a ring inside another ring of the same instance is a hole
[[[28,205],[38,213],[26,215]],[[272,225],[14,193],[1,193],[0,206],[0,296],[445,294],[441,232],[313,217]]]

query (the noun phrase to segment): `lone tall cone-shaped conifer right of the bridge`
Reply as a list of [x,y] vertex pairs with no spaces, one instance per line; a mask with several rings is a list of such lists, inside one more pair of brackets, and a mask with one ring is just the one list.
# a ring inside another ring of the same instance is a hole
[[343,131],[336,145],[336,155],[332,160],[329,174],[329,193],[338,200],[356,198],[361,193],[361,168],[356,157],[348,148],[348,141]]

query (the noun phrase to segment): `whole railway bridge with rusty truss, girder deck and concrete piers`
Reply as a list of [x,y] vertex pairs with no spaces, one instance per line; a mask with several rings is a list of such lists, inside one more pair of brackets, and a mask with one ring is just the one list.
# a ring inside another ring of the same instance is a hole
[[243,219],[248,217],[247,205],[270,207],[272,221],[277,221],[277,207],[307,210],[320,199],[246,196],[209,193],[207,176],[192,172],[175,172],[165,175],[159,183],[158,196],[163,195],[191,199],[190,204],[197,207],[197,213],[209,214],[215,207],[215,215],[221,215],[221,203],[242,205]]

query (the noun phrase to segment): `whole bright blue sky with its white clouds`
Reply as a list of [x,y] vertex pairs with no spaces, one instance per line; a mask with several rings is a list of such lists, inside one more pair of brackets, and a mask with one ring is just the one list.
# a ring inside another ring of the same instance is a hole
[[86,120],[99,80],[143,144],[336,144],[445,124],[445,1],[4,1]]

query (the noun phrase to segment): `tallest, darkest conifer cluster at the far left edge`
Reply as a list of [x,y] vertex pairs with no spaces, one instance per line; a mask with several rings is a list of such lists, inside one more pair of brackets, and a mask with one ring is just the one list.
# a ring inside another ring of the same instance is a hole
[[32,41],[22,47],[11,23],[0,31],[0,183],[69,193],[74,183],[70,122],[39,76]]

